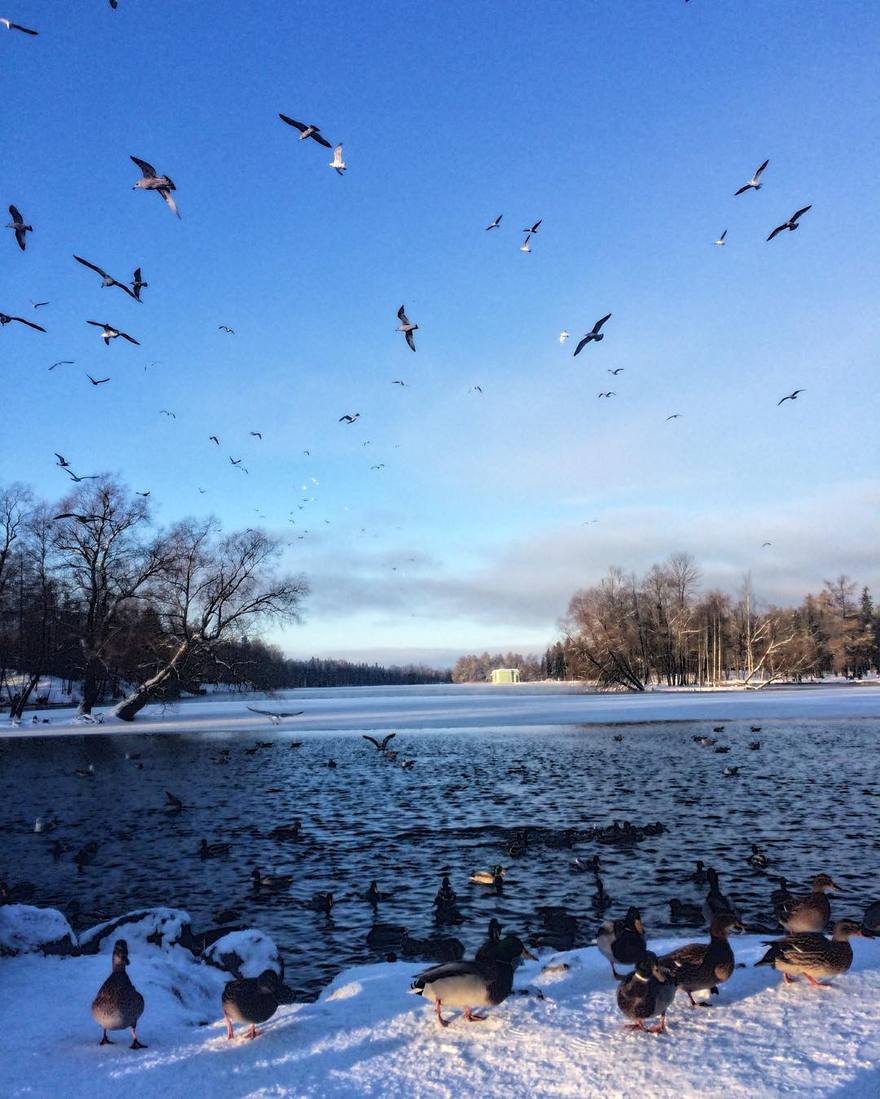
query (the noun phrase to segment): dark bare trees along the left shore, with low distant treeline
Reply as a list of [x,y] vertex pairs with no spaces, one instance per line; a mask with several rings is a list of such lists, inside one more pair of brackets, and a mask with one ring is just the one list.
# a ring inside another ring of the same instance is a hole
[[24,485],[0,486],[0,699],[21,718],[54,676],[77,686],[83,713],[111,698],[132,720],[146,702],[204,684],[274,689],[434,676],[287,660],[260,642],[268,624],[299,619],[309,590],[302,576],[280,570],[282,547],[261,530],[224,534],[215,519],[158,529],[149,501],[109,477],[54,506]]

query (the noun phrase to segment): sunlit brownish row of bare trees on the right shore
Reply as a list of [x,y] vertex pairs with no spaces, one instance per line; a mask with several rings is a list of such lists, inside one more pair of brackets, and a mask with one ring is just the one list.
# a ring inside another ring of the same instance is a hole
[[842,575],[798,607],[759,607],[750,577],[735,595],[702,590],[688,554],[643,577],[609,569],[575,593],[565,637],[544,654],[547,678],[644,690],[880,670],[880,612],[871,592]]

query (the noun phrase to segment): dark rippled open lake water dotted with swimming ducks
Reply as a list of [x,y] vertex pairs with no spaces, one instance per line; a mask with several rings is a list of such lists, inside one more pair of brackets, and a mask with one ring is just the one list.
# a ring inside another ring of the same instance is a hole
[[[290,986],[307,997],[339,968],[382,956],[366,943],[377,920],[422,939],[455,935],[468,952],[493,915],[522,936],[539,935],[544,906],[577,918],[578,945],[631,903],[649,933],[668,932],[670,897],[705,896],[691,881],[697,858],[719,869],[751,926],[773,926],[779,875],[805,884],[822,870],[845,890],[832,898],[833,911],[859,917],[880,896],[880,722],[765,721],[760,733],[749,724],[726,722],[721,734],[712,722],[399,730],[396,763],[354,732],[4,741],[0,877],[34,882],[34,903],[77,901],[80,929],[167,904],[202,930],[219,910],[238,909],[241,924],[275,939]],[[697,733],[731,751],[697,745]],[[760,751],[748,747],[755,739]],[[302,746],[292,748],[293,740]],[[252,751],[258,741],[271,746]],[[402,758],[415,765],[403,769]],[[89,765],[91,777],[76,774]],[[728,766],[739,775],[723,777]],[[181,812],[166,811],[165,790],[182,799]],[[60,824],[35,834],[37,815]],[[269,839],[293,818],[302,821],[299,843]],[[665,831],[630,845],[590,839],[615,820],[660,821]],[[523,831],[527,846],[511,855]],[[232,851],[202,859],[202,837],[229,841]],[[57,858],[55,840],[66,848]],[[79,869],[73,856],[88,841],[98,851]],[[767,872],[748,865],[753,843],[766,852]],[[606,913],[593,907],[592,875],[573,866],[594,854],[613,898]],[[501,895],[468,884],[471,872],[495,863],[508,867]],[[290,874],[292,885],[255,893],[255,866]],[[437,928],[432,908],[444,873],[464,918],[448,929]],[[378,912],[360,896],[372,879],[392,893]],[[323,890],[336,899],[330,918],[305,907]]]

